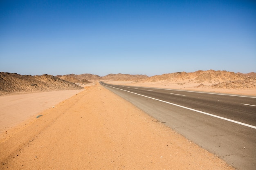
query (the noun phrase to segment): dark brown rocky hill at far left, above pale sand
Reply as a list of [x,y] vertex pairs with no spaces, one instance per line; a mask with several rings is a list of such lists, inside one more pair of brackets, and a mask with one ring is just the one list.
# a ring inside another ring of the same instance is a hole
[[52,75],[19,75],[0,72],[0,95],[20,92],[79,90],[83,87]]

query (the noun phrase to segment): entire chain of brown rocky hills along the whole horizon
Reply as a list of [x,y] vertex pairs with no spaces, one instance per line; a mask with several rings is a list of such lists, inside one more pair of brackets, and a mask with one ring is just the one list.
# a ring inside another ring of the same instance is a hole
[[147,75],[109,74],[103,77],[92,74],[81,75],[19,75],[0,72],[0,95],[20,92],[60,91],[83,89],[76,84],[97,81],[132,81],[134,83],[162,83],[189,87],[218,89],[254,89],[256,73],[234,73],[229,71],[177,72],[148,77]]

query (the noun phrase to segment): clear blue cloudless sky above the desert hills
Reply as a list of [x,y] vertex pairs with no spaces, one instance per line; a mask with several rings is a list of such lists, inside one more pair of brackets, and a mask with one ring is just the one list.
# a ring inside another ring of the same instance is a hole
[[0,0],[0,71],[256,72],[255,0]]

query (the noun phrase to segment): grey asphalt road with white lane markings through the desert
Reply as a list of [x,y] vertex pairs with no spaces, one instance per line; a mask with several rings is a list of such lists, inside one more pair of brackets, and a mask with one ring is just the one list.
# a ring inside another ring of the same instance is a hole
[[100,83],[231,166],[255,170],[255,96]]

